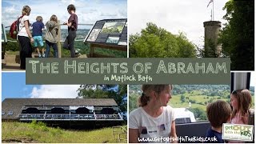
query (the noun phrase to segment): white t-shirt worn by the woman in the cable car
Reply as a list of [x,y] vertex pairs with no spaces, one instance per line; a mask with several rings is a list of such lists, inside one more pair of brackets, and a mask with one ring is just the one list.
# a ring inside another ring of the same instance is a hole
[[151,117],[142,107],[130,112],[129,128],[138,129],[139,142],[170,142],[171,123],[175,120],[174,110],[163,106],[162,114],[157,118]]

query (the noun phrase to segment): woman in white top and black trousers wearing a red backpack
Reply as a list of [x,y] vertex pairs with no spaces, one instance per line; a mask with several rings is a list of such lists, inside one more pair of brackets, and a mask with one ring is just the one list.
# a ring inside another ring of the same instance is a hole
[[26,70],[26,58],[32,58],[32,46],[30,42],[34,42],[34,38],[30,33],[30,6],[23,6],[22,18],[19,19],[18,42],[21,47],[19,56],[21,59],[20,68]]

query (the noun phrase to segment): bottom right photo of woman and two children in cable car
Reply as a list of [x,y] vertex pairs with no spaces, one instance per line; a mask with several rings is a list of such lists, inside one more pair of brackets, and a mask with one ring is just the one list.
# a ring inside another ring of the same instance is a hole
[[234,72],[230,85],[130,85],[129,142],[254,143],[254,81]]

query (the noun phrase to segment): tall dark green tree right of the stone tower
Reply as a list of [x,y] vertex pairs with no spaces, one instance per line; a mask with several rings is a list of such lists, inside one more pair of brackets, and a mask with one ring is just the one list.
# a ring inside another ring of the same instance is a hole
[[223,28],[218,42],[231,59],[231,70],[254,70],[254,0],[230,0],[223,7]]

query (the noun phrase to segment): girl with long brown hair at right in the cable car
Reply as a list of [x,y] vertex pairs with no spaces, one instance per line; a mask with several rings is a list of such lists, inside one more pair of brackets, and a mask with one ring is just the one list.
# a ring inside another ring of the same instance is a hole
[[[250,91],[247,89],[244,90],[234,90],[230,95],[230,103],[233,107],[233,112],[231,116],[232,124],[245,124],[250,125],[252,123],[250,120],[250,106],[252,98]],[[243,141],[229,141],[240,143]]]

